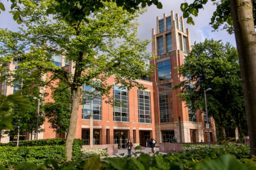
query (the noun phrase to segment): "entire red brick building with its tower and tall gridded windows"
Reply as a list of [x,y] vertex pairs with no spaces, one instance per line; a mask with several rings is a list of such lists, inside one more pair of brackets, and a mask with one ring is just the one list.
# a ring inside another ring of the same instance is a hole
[[[200,142],[208,141],[207,129],[205,129],[205,118],[203,114],[196,113],[189,118],[188,108],[179,102],[176,96],[179,90],[171,90],[184,78],[176,75],[174,69],[184,62],[185,56],[191,50],[189,30],[184,29],[183,17],[164,14],[163,19],[156,19],[156,33],[152,29],[152,53],[158,56],[150,61],[156,65],[158,70],[154,71],[151,79],[143,78],[139,83],[147,87],[147,90],[140,91],[134,87],[130,91],[120,89],[121,84],[115,84],[114,76],[108,79],[108,84],[113,86],[114,99],[121,99],[127,105],[125,107],[112,107],[102,99],[95,99],[88,104],[79,106],[79,118],[77,120],[76,138],[85,139],[85,145],[89,145],[90,121],[88,113],[94,118],[93,121],[93,145],[104,145],[118,143],[119,148],[124,148],[128,139],[136,145],[147,146],[148,139],[154,137],[157,143],[169,143],[172,137],[176,136],[178,142]],[[11,62],[10,70],[17,69],[19,60]],[[64,67],[73,73],[74,63],[65,62],[64,56],[55,56],[52,62],[56,66]],[[19,90],[19,86],[8,87],[5,83],[0,84],[0,91],[4,95],[11,95]],[[17,84],[21,85],[21,84]],[[91,91],[90,87],[83,86],[84,90]],[[51,94],[51,89],[44,88],[44,91]],[[50,96],[50,95],[49,95]],[[46,98],[46,101],[51,101]],[[216,141],[215,128],[210,118],[210,139]],[[38,139],[65,138],[65,134],[53,133],[46,121],[42,128],[44,133],[38,135]],[[22,132],[20,139],[31,139],[31,134]],[[35,139],[35,135],[32,136]],[[16,142],[17,138],[8,137],[0,139],[1,143]]]

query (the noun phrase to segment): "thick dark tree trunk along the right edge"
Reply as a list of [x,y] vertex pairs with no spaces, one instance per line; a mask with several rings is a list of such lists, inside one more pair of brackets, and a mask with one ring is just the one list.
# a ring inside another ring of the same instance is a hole
[[251,0],[230,0],[237,42],[251,155],[256,155],[256,35]]

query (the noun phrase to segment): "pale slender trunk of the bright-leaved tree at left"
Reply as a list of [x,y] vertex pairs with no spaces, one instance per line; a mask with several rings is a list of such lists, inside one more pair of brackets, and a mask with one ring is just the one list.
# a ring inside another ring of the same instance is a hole
[[71,106],[71,116],[69,119],[69,126],[68,126],[68,133],[67,138],[65,141],[65,148],[66,148],[66,156],[67,162],[72,160],[72,144],[73,140],[76,136],[76,124],[79,112],[79,101],[80,101],[80,87],[71,90],[72,93],[72,106]]

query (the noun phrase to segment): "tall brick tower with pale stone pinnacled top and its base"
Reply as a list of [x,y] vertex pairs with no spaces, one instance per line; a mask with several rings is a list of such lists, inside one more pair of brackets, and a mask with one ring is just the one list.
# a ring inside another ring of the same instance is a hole
[[[172,137],[177,137],[183,143],[208,141],[205,128],[206,118],[203,114],[191,113],[185,103],[177,95],[180,89],[172,90],[174,84],[179,84],[184,77],[176,75],[177,66],[181,66],[191,50],[189,29],[185,30],[183,17],[179,14],[163,15],[156,18],[156,32],[152,29],[152,53],[158,56],[150,64],[158,68],[151,77],[154,89],[155,105],[155,135],[157,143],[170,143]],[[189,114],[193,114],[189,118]],[[213,119],[210,119],[210,141],[216,141]]]

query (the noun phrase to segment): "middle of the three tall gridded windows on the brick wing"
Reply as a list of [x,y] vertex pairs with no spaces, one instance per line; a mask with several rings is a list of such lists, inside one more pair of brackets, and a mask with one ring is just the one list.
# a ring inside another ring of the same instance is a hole
[[119,101],[125,105],[116,105],[113,112],[114,121],[129,122],[129,103],[127,88],[115,86],[113,89],[114,101]]

